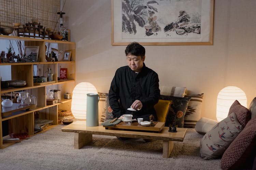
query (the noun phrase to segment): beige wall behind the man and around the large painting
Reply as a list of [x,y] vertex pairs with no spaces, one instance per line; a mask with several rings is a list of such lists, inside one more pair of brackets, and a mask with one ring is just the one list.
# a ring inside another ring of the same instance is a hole
[[[160,85],[204,93],[202,117],[216,119],[225,86],[243,89],[249,105],[256,96],[255,8],[255,0],[215,0],[213,46],[145,46],[146,66]],[[63,11],[76,43],[76,83],[108,92],[115,70],[126,65],[125,46],[111,46],[111,0],[68,0]]]

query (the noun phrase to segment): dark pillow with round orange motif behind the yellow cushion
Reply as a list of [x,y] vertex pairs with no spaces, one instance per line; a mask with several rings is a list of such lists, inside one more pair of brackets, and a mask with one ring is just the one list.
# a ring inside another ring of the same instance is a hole
[[184,116],[190,100],[190,97],[171,97],[160,95],[162,100],[171,100],[172,104],[166,117],[165,126],[175,125],[178,128],[183,128]]

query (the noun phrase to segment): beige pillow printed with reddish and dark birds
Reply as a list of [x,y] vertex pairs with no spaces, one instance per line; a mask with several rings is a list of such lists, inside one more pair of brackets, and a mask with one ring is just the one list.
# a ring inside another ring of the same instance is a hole
[[218,122],[200,141],[200,156],[204,159],[220,158],[230,143],[243,130],[235,113]]

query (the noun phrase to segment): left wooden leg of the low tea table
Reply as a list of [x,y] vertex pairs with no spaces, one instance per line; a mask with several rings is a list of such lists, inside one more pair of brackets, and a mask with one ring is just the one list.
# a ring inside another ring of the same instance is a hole
[[75,133],[74,135],[74,148],[80,149],[83,146],[87,145],[93,140],[92,134],[85,134],[85,133]]

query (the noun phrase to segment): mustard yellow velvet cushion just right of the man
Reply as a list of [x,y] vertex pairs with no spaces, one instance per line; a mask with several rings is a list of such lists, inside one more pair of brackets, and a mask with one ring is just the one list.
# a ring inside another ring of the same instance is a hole
[[158,103],[155,104],[156,116],[159,122],[165,122],[167,114],[169,112],[170,105],[172,104],[171,100],[158,100]]

